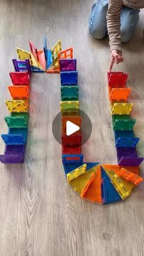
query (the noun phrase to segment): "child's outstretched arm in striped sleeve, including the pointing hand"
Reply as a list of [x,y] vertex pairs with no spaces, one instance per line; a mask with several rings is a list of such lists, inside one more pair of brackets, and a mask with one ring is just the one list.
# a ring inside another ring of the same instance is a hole
[[121,52],[121,32],[120,32],[120,15],[122,8],[122,0],[109,0],[109,8],[107,11],[107,29],[109,34],[110,45],[110,67],[112,65],[123,62],[123,56]]

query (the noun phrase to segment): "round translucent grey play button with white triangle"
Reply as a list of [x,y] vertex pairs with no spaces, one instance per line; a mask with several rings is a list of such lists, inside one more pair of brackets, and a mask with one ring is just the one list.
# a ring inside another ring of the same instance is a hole
[[[83,145],[92,133],[92,123],[88,115],[81,110],[74,111],[70,109],[69,112],[59,112],[52,122],[52,133],[61,145],[62,139],[67,139],[66,137],[70,138],[68,141],[74,143],[81,140],[81,145]],[[67,147],[71,147],[71,144]]]

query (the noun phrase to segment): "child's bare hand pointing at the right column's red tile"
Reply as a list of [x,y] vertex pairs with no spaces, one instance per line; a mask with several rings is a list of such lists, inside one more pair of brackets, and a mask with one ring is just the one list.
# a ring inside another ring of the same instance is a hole
[[119,64],[120,62],[123,62],[123,54],[121,51],[118,51],[117,49],[113,49],[110,54],[110,65],[109,65],[109,72],[112,71],[113,64]]

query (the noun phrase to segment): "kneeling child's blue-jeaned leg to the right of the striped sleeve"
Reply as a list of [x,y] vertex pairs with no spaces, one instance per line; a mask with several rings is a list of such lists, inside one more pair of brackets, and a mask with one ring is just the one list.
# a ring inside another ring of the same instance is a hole
[[134,10],[123,6],[121,11],[121,42],[128,42],[135,32],[135,28],[139,21],[140,10]]

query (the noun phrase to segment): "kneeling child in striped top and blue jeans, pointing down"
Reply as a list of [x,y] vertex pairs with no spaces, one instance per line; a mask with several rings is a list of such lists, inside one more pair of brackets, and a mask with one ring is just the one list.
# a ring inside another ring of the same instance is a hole
[[[109,4],[108,4],[109,2]],[[121,42],[128,42],[139,21],[144,0],[96,0],[89,20],[90,34],[97,39],[109,34],[110,65],[123,62]]]

